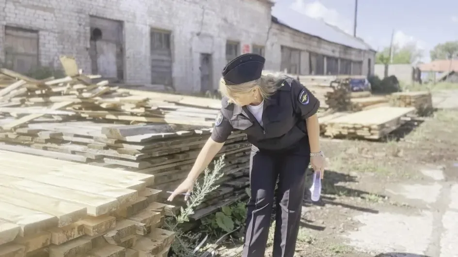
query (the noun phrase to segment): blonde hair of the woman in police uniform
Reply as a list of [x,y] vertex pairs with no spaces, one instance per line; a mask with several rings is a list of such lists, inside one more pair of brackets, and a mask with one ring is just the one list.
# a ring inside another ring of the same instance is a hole
[[229,103],[234,103],[232,96],[235,94],[244,94],[258,88],[262,99],[267,99],[270,95],[274,94],[278,88],[282,86],[280,81],[286,79],[287,76],[281,73],[267,73],[262,72],[260,78],[245,82],[237,85],[226,85],[226,81],[221,78],[219,82],[219,91],[223,96],[229,98]]

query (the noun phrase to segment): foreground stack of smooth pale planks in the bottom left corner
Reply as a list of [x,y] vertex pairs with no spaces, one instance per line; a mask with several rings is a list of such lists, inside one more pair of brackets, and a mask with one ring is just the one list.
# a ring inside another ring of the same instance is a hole
[[166,257],[154,176],[0,151],[1,257]]

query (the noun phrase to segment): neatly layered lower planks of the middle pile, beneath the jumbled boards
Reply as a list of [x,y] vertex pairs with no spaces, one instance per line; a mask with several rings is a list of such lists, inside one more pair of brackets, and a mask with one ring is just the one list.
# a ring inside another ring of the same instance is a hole
[[[10,121],[2,120],[0,125],[2,122]],[[27,127],[17,128],[14,133],[0,133],[3,141],[0,149],[153,174],[155,188],[172,191],[186,178],[210,131],[176,132],[172,124],[117,125],[38,120]],[[205,210],[209,212],[199,215],[205,216],[213,212],[214,206],[227,205],[245,196],[249,151],[250,144],[245,134],[234,132],[229,136],[216,156],[225,155],[224,177],[218,181],[218,190],[197,207],[197,210],[207,208]],[[165,197],[162,195],[161,200]],[[226,201],[221,201],[223,198]],[[177,197],[174,204],[184,205],[182,197]]]

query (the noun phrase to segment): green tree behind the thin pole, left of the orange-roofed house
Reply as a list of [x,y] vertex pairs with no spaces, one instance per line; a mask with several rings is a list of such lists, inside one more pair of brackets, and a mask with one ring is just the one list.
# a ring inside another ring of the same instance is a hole
[[[399,47],[393,45],[393,64],[408,64],[414,63],[423,57],[423,51],[414,43]],[[376,55],[376,63],[389,64],[390,63],[390,47],[385,47]]]

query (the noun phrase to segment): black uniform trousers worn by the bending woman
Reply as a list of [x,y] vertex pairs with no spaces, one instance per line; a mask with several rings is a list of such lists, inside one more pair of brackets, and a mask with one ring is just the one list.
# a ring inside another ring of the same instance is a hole
[[250,156],[251,197],[248,201],[242,257],[264,257],[278,178],[273,257],[293,257],[310,163],[307,137],[283,151],[256,147]]

